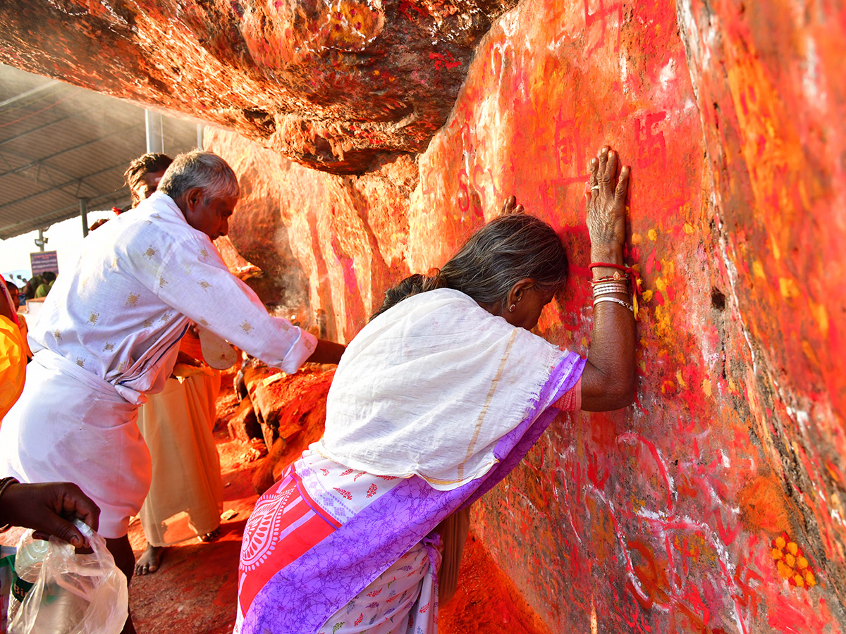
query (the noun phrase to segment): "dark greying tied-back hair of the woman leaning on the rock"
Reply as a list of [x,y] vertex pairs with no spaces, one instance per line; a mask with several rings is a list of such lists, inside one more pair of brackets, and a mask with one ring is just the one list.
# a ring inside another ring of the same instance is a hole
[[406,277],[385,293],[371,319],[404,298],[436,288],[453,288],[498,312],[508,293],[530,277],[541,292],[557,293],[567,283],[567,253],[558,233],[528,214],[498,216],[475,232],[434,275]]

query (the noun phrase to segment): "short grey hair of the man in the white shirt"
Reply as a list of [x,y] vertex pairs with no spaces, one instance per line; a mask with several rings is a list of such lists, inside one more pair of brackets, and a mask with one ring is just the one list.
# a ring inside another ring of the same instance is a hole
[[239,196],[238,177],[232,167],[217,154],[194,150],[180,154],[164,172],[158,191],[172,199],[189,189],[200,188],[209,198]]

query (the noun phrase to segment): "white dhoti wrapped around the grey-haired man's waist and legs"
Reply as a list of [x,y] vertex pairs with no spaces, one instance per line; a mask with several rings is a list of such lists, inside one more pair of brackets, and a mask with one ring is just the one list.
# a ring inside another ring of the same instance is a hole
[[21,482],[78,484],[100,507],[99,533],[123,537],[150,488],[150,453],[137,416],[138,407],[113,385],[41,350],[3,418],[0,472]]

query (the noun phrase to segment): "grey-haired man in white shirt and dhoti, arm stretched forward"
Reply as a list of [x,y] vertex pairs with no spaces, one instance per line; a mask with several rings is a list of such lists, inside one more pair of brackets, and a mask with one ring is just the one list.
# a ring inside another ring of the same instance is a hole
[[[189,152],[157,193],[91,232],[30,331],[24,391],[0,426],[0,477],[78,484],[128,580],[129,517],[151,478],[135,418],[146,394],[162,391],[190,322],[286,372],[343,353],[272,317],[228,271],[211,241],[227,234],[238,199],[226,161]],[[131,618],[124,631],[135,631]]]

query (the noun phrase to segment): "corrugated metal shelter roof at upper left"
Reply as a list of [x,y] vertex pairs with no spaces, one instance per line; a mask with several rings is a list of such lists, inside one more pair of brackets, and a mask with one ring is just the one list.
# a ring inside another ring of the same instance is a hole
[[[197,145],[196,123],[162,118],[170,156]],[[0,239],[88,210],[129,205],[124,171],[146,151],[145,110],[0,64]]]

